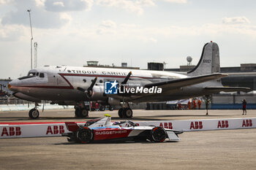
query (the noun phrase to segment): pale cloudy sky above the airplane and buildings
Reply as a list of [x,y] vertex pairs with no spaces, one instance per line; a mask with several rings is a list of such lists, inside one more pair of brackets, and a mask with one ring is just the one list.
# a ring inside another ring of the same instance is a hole
[[[29,12],[37,67],[136,66],[179,68],[217,42],[221,66],[256,63],[254,0],[0,0],[0,79],[31,68]],[[34,55],[34,51],[33,51]],[[34,66],[34,64],[33,64]]]

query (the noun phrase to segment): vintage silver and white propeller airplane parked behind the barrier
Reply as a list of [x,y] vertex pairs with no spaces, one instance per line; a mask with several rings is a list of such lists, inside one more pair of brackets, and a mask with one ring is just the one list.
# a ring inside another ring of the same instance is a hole
[[206,96],[219,91],[249,90],[223,87],[220,78],[219,47],[209,42],[203,47],[200,61],[190,72],[108,69],[72,66],[44,66],[31,69],[26,77],[12,80],[8,88],[13,96],[35,102],[29,117],[39,117],[37,104],[74,105],[76,117],[87,117],[85,101],[119,105],[119,117],[132,117],[129,102],[171,101]]

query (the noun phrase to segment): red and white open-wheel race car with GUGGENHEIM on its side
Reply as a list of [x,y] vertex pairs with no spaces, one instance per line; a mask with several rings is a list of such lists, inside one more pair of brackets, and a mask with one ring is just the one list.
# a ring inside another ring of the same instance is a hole
[[182,131],[167,129],[156,126],[138,126],[132,121],[126,120],[111,123],[110,115],[89,120],[85,125],[78,125],[75,122],[65,123],[68,133],[62,136],[68,136],[69,142],[126,142],[126,141],[151,141],[164,142],[179,141],[178,134]]

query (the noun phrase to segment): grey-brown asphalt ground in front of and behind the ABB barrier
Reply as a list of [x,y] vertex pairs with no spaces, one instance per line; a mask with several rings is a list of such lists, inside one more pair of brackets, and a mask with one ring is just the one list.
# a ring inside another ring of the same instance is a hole
[[[120,120],[117,111],[105,113]],[[190,120],[256,117],[256,110],[134,110],[134,120]],[[89,119],[89,118],[88,118]],[[0,112],[0,122],[64,122],[72,109],[45,111],[39,120],[27,112]],[[66,137],[0,139],[0,169],[256,169],[256,129],[197,131],[180,142],[74,144]]]

